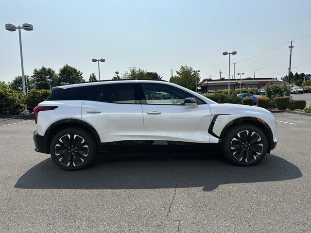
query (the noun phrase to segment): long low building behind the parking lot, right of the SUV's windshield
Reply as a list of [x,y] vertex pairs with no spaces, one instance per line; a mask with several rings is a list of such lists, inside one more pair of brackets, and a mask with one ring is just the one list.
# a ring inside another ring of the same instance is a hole
[[[240,88],[240,82],[242,88],[248,87],[257,87],[260,88],[267,83],[282,83],[281,81],[276,80],[276,78],[245,78],[240,81],[240,79],[230,79],[230,89],[235,90]],[[215,91],[221,89],[228,89],[228,80],[227,79],[217,79],[212,81],[206,81],[201,84],[201,91]]]

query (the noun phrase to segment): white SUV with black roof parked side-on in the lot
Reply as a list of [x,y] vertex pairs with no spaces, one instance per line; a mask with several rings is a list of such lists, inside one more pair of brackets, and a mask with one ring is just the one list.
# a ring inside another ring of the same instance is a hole
[[[156,94],[161,93],[161,95]],[[276,147],[276,118],[266,109],[219,104],[161,80],[117,80],[53,87],[34,109],[35,150],[78,170],[98,152],[222,151],[233,164],[258,163]]]

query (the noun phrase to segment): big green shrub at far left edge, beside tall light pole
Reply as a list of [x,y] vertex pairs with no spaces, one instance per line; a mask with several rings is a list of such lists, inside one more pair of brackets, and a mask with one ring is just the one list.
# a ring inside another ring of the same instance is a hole
[[0,82],[0,114],[17,115],[23,111],[24,96]]

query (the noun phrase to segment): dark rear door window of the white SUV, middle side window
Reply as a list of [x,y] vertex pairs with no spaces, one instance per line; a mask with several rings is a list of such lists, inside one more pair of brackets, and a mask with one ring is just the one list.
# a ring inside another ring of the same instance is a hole
[[107,103],[135,103],[134,83],[105,84],[91,100]]

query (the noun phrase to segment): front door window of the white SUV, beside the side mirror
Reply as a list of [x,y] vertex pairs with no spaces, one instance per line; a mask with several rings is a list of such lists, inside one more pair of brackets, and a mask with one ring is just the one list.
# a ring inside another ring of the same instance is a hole
[[171,85],[157,83],[142,83],[141,85],[147,104],[182,105],[184,100],[190,97],[197,100],[198,104],[204,103],[199,98]]

